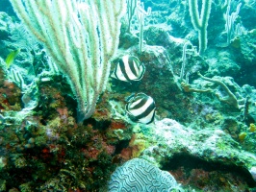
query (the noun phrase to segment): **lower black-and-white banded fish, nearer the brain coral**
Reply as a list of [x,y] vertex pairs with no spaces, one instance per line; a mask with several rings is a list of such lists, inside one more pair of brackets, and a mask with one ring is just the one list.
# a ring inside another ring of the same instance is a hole
[[153,122],[156,106],[152,97],[138,93],[132,95],[127,102],[125,109],[130,119],[144,124]]

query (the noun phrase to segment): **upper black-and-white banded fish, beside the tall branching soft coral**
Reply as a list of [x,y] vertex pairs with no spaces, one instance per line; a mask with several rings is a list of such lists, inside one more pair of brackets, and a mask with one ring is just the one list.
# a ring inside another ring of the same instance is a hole
[[145,66],[138,58],[125,55],[118,60],[111,77],[123,82],[134,82],[140,81],[144,72]]

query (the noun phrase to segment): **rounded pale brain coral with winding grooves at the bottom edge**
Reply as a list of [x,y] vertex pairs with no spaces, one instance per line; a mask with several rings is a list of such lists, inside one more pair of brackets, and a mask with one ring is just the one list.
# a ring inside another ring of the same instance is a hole
[[178,186],[166,171],[141,158],[134,158],[115,169],[109,181],[110,192],[168,192]]

